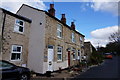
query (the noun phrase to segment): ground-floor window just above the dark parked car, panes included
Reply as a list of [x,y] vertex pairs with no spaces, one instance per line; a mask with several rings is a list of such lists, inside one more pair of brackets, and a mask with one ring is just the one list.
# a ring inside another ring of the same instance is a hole
[[11,60],[20,60],[22,54],[22,46],[12,45]]

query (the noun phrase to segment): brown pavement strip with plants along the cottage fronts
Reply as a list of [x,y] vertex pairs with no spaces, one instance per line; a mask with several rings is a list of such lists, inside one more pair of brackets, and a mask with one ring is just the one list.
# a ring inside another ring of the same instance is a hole
[[79,68],[72,68],[70,70],[62,70],[61,72],[53,72],[51,73],[50,77],[47,76],[33,76],[31,78],[31,80],[69,80],[69,79],[73,79],[74,77],[86,72],[87,70],[89,70],[92,67],[95,67],[97,65],[92,65],[88,68],[84,67],[82,68],[82,70],[79,70]]

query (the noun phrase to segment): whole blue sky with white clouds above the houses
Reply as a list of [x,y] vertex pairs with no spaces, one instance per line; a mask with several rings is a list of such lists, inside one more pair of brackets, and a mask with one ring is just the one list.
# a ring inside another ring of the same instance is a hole
[[74,21],[76,30],[85,35],[85,41],[90,41],[94,47],[105,46],[110,34],[118,31],[118,1],[119,0],[2,0],[0,7],[13,13],[22,4],[48,11],[50,3],[54,3],[55,17],[61,19],[65,14],[67,24]]

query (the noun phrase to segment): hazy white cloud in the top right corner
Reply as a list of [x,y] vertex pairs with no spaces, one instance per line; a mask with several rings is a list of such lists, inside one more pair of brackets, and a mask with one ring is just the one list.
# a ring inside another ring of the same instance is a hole
[[[88,7],[92,8],[95,12],[108,12],[115,16],[120,15],[118,12],[118,3],[120,0],[82,0],[82,2],[87,2],[86,5],[81,5],[83,11],[86,11]],[[88,3],[89,2],[89,3]]]

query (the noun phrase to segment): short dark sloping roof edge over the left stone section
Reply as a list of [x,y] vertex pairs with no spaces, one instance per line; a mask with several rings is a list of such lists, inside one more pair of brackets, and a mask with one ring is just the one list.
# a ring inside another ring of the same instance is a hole
[[26,17],[23,17],[23,16],[20,16],[20,15],[14,14],[14,13],[12,13],[12,12],[10,12],[10,11],[7,11],[7,10],[5,10],[5,9],[3,9],[3,8],[0,8],[0,9],[1,9],[4,13],[6,13],[6,14],[9,14],[9,15],[14,16],[14,17],[16,17],[16,18],[19,18],[19,19],[21,19],[21,20],[27,21],[27,22],[29,22],[29,23],[32,22],[30,19],[28,19],[28,18],[26,18]]

